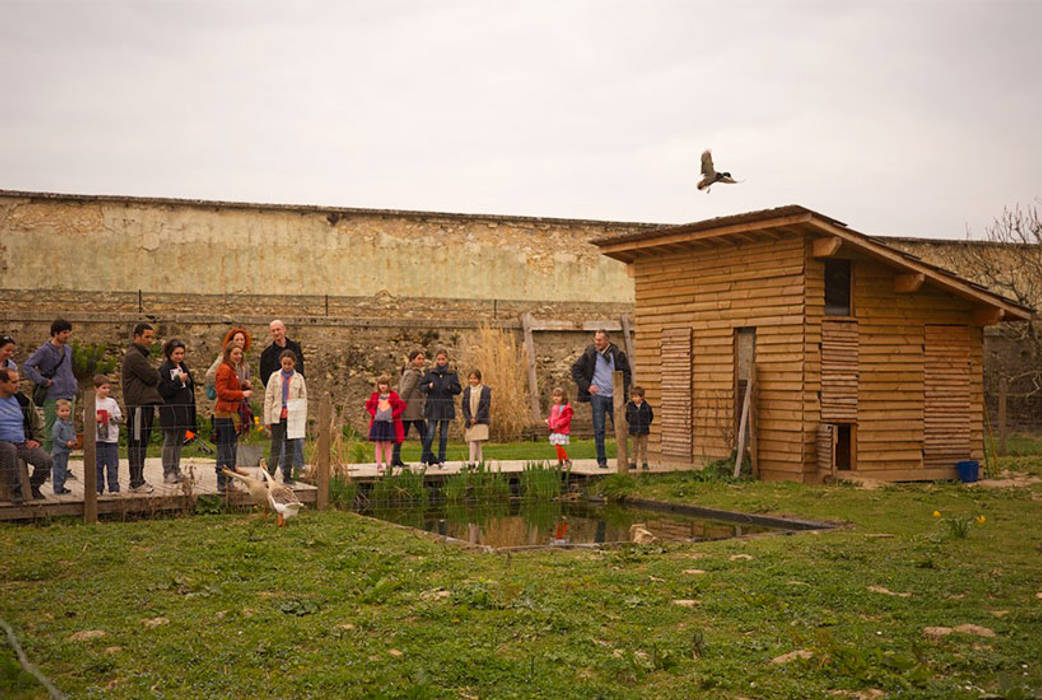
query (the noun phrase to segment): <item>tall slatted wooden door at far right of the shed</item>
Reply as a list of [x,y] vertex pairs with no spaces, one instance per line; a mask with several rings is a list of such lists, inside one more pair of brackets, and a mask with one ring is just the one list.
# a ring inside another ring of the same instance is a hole
[[925,468],[954,467],[970,454],[970,332],[967,326],[923,328]]

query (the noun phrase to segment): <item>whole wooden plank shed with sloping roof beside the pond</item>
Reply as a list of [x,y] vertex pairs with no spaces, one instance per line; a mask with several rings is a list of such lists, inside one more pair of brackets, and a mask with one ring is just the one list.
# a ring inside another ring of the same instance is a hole
[[956,476],[984,455],[983,327],[1033,309],[802,206],[593,241],[636,282],[649,452],[765,479]]

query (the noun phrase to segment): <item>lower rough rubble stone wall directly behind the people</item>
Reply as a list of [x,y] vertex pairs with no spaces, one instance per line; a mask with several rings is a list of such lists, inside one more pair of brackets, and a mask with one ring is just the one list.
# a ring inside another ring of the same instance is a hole
[[[570,323],[573,330],[535,333],[539,393],[545,408],[554,385],[565,386],[574,396],[570,368],[592,342],[590,329],[601,325],[618,327],[620,317],[630,316],[632,311],[629,304],[611,303],[525,304],[445,299],[431,303],[429,299],[416,298],[338,297],[329,299],[329,308],[340,316],[305,316],[294,314],[299,307],[284,297],[245,295],[145,296],[139,311],[137,295],[91,295],[77,303],[67,294],[15,291],[0,294],[5,299],[0,309],[0,328],[19,342],[15,357],[19,366],[48,339],[54,318],[66,318],[73,324],[73,340],[103,344],[108,349],[106,356],[117,360],[129,344],[133,326],[148,320],[160,341],[170,338],[185,341],[185,361],[200,382],[232,324],[246,327],[253,335],[248,357],[255,374],[260,351],[271,343],[268,324],[273,318],[281,318],[289,335],[303,345],[312,418],[318,415],[319,398],[329,392],[334,406],[362,433],[368,426],[362,405],[373,391],[373,381],[382,373],[397,377],[414,349],[432,355],[436,350],[445,348],[453,357],[453,364],[457,364],[466,356],[468,345],[473,343],[482,323],[514,333],[519,346],[523,342],[522,312],[531,312],[537,319]],[[324,299],[308,300],[324,308],[322,302]],[[159,358],[155,358],[155,362],[158,361]],[[462,366],[460,369],[466,372],[470,368]],[[118,376],[119,370],[114,374]],[[118,382],[114,389],[120,399]],[[212,402],[201,391],[197,400],[204,413],[209,410]],[[496,401],[519,401],[527,405],[524,397],[503,394],[497,394]],[[255,398],[255,403],[262,402]],[[589,408],[584,406],[578,410],[576,428],[579,432],[588,431],[589,424]]]

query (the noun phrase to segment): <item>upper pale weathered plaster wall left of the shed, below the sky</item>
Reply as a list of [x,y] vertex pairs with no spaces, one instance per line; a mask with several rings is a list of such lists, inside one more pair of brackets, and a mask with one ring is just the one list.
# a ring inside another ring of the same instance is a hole
[[0,271],[9,290],[632,303],[588,241],[650,226],[0,191]]

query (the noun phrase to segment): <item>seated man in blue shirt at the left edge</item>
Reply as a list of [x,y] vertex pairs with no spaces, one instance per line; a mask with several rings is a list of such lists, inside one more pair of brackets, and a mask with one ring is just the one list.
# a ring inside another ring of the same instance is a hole
[[0,478],[9,486],[11,500],[21,502],[26,494],[18,479],[18,460],[32,465],[29,479],[32,498],[43,498],[41,484],[51,472],[51,455],[40,443],[44,426],[28,397],[18,391],[18,370],[0,368]]

